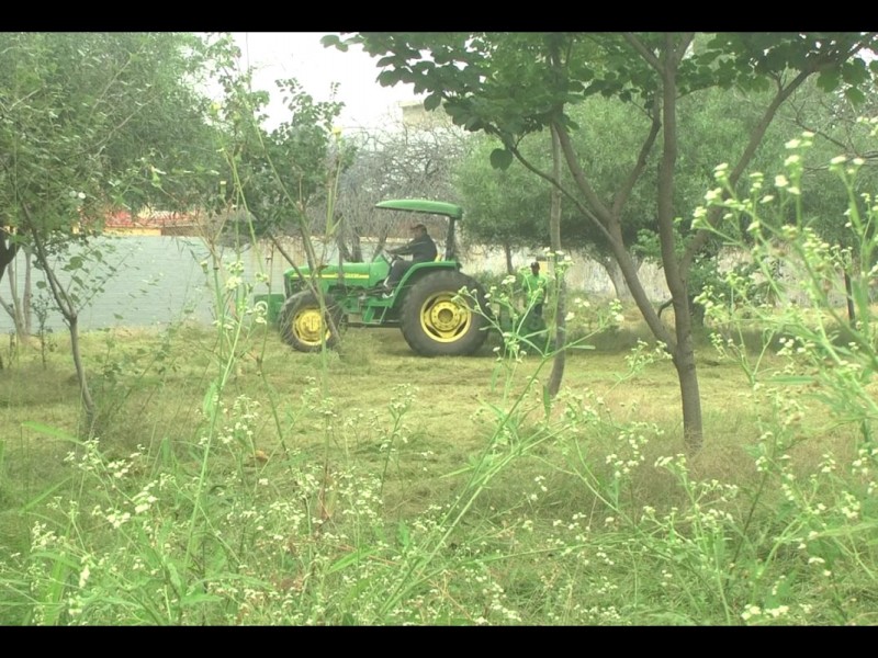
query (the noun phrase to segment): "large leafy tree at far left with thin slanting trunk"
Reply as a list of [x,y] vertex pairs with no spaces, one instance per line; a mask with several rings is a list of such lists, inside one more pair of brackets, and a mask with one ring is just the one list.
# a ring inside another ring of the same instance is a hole
[[[211,181],[214,129],[195,77],[207,50],[178,33],[0,34],[0,265],[32,250],[78,350],[94,248],[109,209],[193,206]],[[57,268],[70,272],[64,285]]]

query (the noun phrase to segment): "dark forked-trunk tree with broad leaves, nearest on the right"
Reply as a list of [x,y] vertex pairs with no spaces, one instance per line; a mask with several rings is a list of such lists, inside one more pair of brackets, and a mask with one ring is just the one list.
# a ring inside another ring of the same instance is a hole
[[[747,144],[730,155],[734,186],[778,109],[810,77],[817,76],[826,91],[842,89],[851,99],[862,98],[859,89],[870,81],[871,71],[857,55],[875,46],[875,35],[864,33],[695,37],[694,33],[360,33],[347,38],[378,58],[382,84],[413,84],[415,92],[427,94],[425,107],[443,103],[455,124],[497,136],[504,148],[492,154],[492,163],[508,167],[517,159],[561,189],[605,236],[644,319],[672,355],[680,385],[684,438],[691,450],[700,447],[703,430],[687,280],[693,260],[710,236],[706,230],[690,231],[679,249],[675,226],[684,219],[674,205],[674,192],[679,135],[686,126],[679,123],[678,101],[717,87],[769,92]],[[325,37],[324,43],[347,47],[336,36]],[[588,154],[576,150],[573,134],[579,126],[569,110],[597,94],[622,103],[637,101],[646,110],[640,146],[620,154],[626,174],[609,196],[595,186]],[[558,135],[572,188],[530,163],[519,149],[526,135],[545,128]],[[652,307],[623,238],[624,208],[653,154],[662,265],[675,310],[673,331]],[[720,216],[717,209],[709,220]]]

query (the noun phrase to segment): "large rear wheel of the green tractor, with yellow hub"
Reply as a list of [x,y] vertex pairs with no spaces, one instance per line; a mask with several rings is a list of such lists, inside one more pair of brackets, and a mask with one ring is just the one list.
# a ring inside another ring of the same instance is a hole
[[[461,288],[475,291],[475,300]],[[487,299],[474,279],[458,271],[430,273],[406,295],[399,316],[408,347],[423,356],[463,356],[481,348],[487,338]]]

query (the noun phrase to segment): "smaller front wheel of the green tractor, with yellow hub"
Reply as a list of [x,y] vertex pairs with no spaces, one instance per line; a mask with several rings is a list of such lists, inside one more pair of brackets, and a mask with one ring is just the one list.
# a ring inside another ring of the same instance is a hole
[[[290,296],[280,311],[280,332],[283,342],[300,352],[319,352],[320,345],[327,348],[338,344],[341,330],[341,308],[331,297],[325,299],[326,314],[320,315],[320,300],[309,292],[303,291]],[[328,318],[333,318],[336,331]]]

